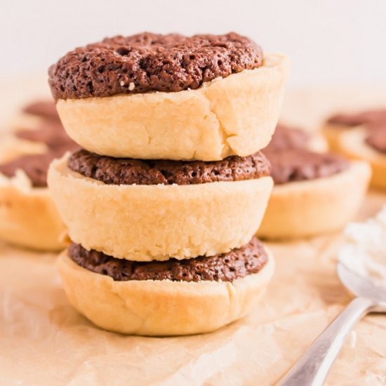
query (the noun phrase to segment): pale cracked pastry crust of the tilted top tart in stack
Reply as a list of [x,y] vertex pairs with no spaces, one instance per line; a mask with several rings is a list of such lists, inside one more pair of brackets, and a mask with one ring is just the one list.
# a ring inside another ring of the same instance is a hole
[[58,100],[68,135],[101,155],[140,159],[245,157],[277,124],[288,73],[284,55],[197,90]]

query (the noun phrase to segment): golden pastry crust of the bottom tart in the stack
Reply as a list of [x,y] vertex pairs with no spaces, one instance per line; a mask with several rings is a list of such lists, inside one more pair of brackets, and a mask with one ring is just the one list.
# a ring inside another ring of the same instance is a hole
[[244,317],[274,272],[267,265],[233,283],[225,281],[114,281],[76,265],[67,251],[58,268],[69,302],[94,324],[134,335],[206,333]]

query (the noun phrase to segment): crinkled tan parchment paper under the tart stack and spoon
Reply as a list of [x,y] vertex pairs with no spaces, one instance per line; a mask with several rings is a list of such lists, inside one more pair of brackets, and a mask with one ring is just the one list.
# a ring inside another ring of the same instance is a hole
[[[310,92],[292,95],[288,117],[317,119],[315,109],[306,109]],[[327,98],[312,95],[312,106],[325,109]],[[372,192],[359,218],[385,201],[385,194]],[[183,338],[96,328],[67,302],[55,255],[0,244],[0,384],[272,385],[350,301],[335,275],[341,241],[333,234],[269,244],[277,270],[252,314],[215,333]],[[327,384],[386,384],[386,316],[371,315],[357,325]]]

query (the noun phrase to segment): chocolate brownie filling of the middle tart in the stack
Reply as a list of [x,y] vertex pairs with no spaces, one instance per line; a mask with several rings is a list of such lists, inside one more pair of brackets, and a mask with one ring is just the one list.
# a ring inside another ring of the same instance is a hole
[[204,162],[113,158],[81,149],[69,157],[67,165],[72,171],[109,185],[193,185],[251,180],[271,171],[269,161],[260,152]]

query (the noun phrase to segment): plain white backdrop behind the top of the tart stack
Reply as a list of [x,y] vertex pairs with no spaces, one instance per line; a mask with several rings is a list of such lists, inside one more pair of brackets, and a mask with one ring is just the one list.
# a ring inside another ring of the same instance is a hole
[[44,74],[60,55],[104,36],[234,30],[265,52],[287,53],[291,86],[386,85],[386,0],[0,2],[3,77]]

